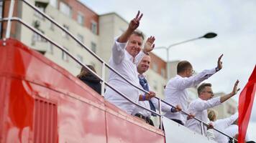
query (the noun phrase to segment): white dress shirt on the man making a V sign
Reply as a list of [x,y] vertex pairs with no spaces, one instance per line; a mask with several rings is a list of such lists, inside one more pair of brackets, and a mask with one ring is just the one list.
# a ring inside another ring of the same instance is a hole
[[[137,64],[145,56],[145,53],[140,51],[140,53],[135,57],[135,59],[127,52],[125,49],[127,43],[119,43],[115,40],[114,46],[112,47],[112,55],[109,60],[109,64],[112,68],[122,74],[129,82],[132,82],[137,87],[140,87],[140,82],[137,77]],[[125,82],[122,77],[119,77],[114,71],[109,71],[109,84],[122,92],[124,95],[129,97],[133,102],[138,103],[140,92],[135,89],[128,82]],[[115,104],[117,107],[123,109],[128,114],[132,114],[135,105],[124,99],[121,95],[114,92],[114,90],[106,87],[105,99],[109,102]]]

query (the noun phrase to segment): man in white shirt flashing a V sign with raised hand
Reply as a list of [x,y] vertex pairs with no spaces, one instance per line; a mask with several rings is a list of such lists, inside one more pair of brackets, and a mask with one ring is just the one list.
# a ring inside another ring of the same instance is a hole
[[[140,19],[142,14],[138,11],[137,16],[130,21],[128,29],[119,36],[114,42],[112,47],[112,55],[109,60],[109,64],[116,71],[122,74],[129,82],[132,82],[137,87],[140,87],[139,79],[137,77],[137,64],[145,56],[145,54],[154,49],[155,37],[150,36],[147,39],[145,48],[142,50],[141,46],[143,43],[144,36],[141,32],[135,31],[140,25]],[[114,89],[117,89],[122,94],[126,95],[133,102],[138,102],[139,100],[149,100],[155,96],[154,92],[150,94],[140,95],[138,89],[135,89],[128,82],[124,81],[122,77],[119,77],[114,71],[109,71],[109,84]],[[117,107],[123,109],[128,114],[132,114],[135,105],[124,99],[121,95],[114,92],[109,87],[106,87],[106,92],[104,95],[105,99],[115,104]]]

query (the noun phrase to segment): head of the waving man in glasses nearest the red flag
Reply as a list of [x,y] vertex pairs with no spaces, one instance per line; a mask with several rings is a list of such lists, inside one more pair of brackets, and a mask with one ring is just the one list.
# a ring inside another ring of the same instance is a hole
[[203,83],[197,88],[198,97],[203,100],[209,100],[214,97],[214,92],[212,92],[211,84]]

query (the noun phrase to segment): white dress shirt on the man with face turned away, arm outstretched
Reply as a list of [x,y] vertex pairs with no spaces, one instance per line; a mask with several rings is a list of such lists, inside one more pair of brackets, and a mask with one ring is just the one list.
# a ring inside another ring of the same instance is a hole
[[[183,111],[186,112],[188,109],[188,92],[186,89],[189,87],[195,87],[197,84],[200,84],[215,73],[215,69],[209,69],[191,77],[180,77],[179,75],[176,75],[169,80],[165,87],[165,101],[173,106],[180,104]],[[186,123],[186,115],[180,112],[167,112],[165,117],[169,119],[178,119],[183,122],[183,124]]]

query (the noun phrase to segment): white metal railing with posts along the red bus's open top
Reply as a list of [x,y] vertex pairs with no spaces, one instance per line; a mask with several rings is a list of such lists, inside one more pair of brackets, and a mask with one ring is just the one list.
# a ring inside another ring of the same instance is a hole
[[[52,18],[50,18],[50,16],[47,16],[47,14],[44,14],[42,11],[40,11],[39,9],[37,9],[36,6],[30,4],[27,0],[4,0],[4,1],[10,1],[10,6],[9,6],[9,16],[8,18],[2,18],[0,19],[1,22],[3,21],[7,21],[7,27],[6,27],[6,34],[4,37],[4,40],[8,39],[11,33],[11,26],[12,26],[12,21],[18,21],[19,23],[23,24],[24,26],[26,26],[28,29],[34,31],[36,34],[42,36],[44,39],[46,39],[47,41],[49,41],[51,44],[55,45],[58,47],[58,49],[61,49],[62,51],[65,52],[65,54],[68,54],[68,56],[70,56],[74,61],[76,61],[78,64],[80,64],[81,66],[85,67],[88,71],[90,71],[91,73],[93,73],[94,76],[96,76],[97,78],[99,78],[101,80],[101,95],[104,96],[104,89],[105,86],[111,88],[112,90],[114,90],[114,92],[120,94],[122,97],[124,97],[125,99],[127,99],[129,102],[132,102],[132,104],[135,104],[137,107],[140,107],[142,109],[147,110],[148,112],[151,112],[152,114],[156,114],[159,117],[159,121],[160,121],[160,127],[162,129],[162,112],[161,112],[161,104],[168,104],[170,107],[175,108],[172,104],[169,104],[168,102],[165,102],[164,100],[155,97],[158,100],[158,108],[159,108],[159,113],[152,111],[151,109],[147,109],[145,107],[142,107],[140,104],[137,104],[136,102],[133,102],[131,99],[129,99],[129,97],[125,96],[124,94],[122,94],[122,92],[119,92],[118,90],[114,89],[114,87],[111,87],[111,85],[105,81],[105,68],[109,68],[111,71],[114,71],[115,74],[117,74],[119,77],[122,77],[122,79],[124,79],[125,82],[128,82],[132,87],[139,89],[140,91],[149,94],[149,92],[145,91],[145,89],[142,89],[140,87],[135,86],[134,84],[132,84],[131,82],[129,82],[129,80],[127,80],[126,78],[124,78],[122,76],[122,74],[119,74],[115,69],[113,69],[111,66],[109,66],[109,64],[106,64],[106,62],[101,59],[99,56],[97,56],[93,51],[91,51],[91,49],[89,49],[88,47],[86,47],[80,40],[78,40],[76,38],[76,36],[73,36],[73,34],[71,34],[67,29],[65,29],[63,26],[60,26],[60,24],[58,24],[56,21],[54,21]],[[101,77],[99,77],[98,74],[96,74],[93,70],[91,70],[90,68],[88,68],[88,66],[86,66],[85,64],[81,63],[81,61],[79,61],[78,59],[76,59],[76,57],[74,57],[72,54],[70,54],[70,52],[68,50],[66,50],[63,46],[60,46],[59,44],[55,43],[55,41],[52,41],[50,38],[48,38],[45,34],[42,34],[41,31],[35,29],[33,26],[30,26],[29,24],[27,24],[25,21],[22,21],[22,19],[20,19],[19,17],[13,17],[13,12],[14,12],[14,1],[23,1],[24,4],[27,4],[27,6],[29,6],[30,8],[34,9],[35,11],[37,11],[39,14],[41,14],[42,16],[44,16],[46,19],[48,19],[52,24],[55,24],[55,26],[58,26],[58,28],[60,28],[61,30],[63,30],[65,32],[65,34],[68,34],[68,36],[70,36],[73,40],[75,40],[80,46],[82,46],[84,49],[86,49],[86,51],[88,51],[92,56],[94,56],[96,59],[98,59],[99,61],[101,61],[102,64],[102,75]],[[187,112],[184,112],[183,110],[180,111],[182,114],[186,114],[189,115]],[[201,122],[201,133],[204,135],[204,126],[209,126],[209,124],[207,124],[206,122],[201,121],[200,119],[197,119],[196,117],[193,117],[193,119],[196,119],[198,122]],[[224,132],[219,131],[219,129],[214,129],[216,130],[216,132],[219,132],[221,134],[223,134],[226,137],[229,137],[234,141],[237,141],[237,139],[234,139],[233,137],[230,137],[228,134],[225,134]]]

